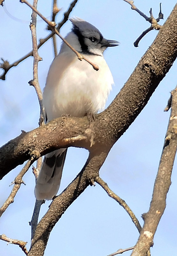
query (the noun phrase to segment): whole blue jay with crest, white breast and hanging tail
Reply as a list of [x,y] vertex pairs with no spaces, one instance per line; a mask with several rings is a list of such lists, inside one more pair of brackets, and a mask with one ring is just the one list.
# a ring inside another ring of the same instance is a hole
[[[82,56],[95,63],[99,70],[76,54],[62,42],[58,55],[52,61],[43,90],[46,123],[62,115],[94,116],[105,107],[114,84],[112,73],[104,59],[107,47],[119,45],[107,40],[101,32],[81,18],[69,19],[71,31],[65,40]],[[58,134],[59,136],[59,134]],[[60,186],[67,148],[60,148],[44,156],[35,185],[37,200],[51,200]]]

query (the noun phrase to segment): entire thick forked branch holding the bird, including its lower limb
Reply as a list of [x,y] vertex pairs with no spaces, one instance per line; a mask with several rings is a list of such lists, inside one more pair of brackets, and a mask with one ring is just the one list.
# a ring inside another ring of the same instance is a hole
[[[34,159],[66,146],[84,147],[90,151],[83,170],[63,193],[53,200],[48,212],[38,224],[28,255],[43,255],[56,222],[87,188],[89,180],[95,180],[98,176],[112,145],[135,120],[172,66],[177,55],[176,20],[177,5],[116,99],[104,112],[96,115],[95,122],[88,124],[87,117],[61,117],[34,131],[21,134],[0,149],[1,177],[9,172],[12,166],[14,168],[29,158],[29,155]],[[58,134],[61,135],[60,138]],[[148,234],[145,233],[146,236]]]

